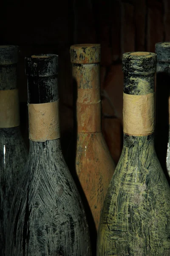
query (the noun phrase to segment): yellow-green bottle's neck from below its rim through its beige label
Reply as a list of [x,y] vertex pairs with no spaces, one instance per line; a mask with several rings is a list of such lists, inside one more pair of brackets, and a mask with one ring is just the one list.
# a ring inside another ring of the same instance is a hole
[[155,128],[154,74],[124,74],[123,131],[131,136],[153,134]]

